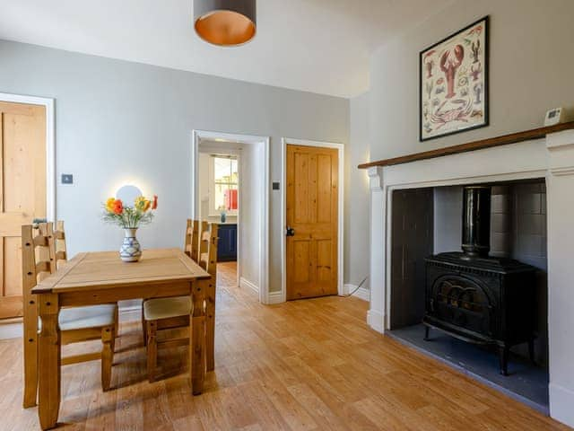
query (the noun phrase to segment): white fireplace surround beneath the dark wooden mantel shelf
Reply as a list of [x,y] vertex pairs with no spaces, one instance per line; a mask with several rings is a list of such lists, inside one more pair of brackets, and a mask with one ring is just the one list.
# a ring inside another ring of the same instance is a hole
[[375,166],[370,178],[370,310],[385,332],[390,321],[391,211],[394,189],[546,179],[550,412],[574,427],[574,130],[518,144]]

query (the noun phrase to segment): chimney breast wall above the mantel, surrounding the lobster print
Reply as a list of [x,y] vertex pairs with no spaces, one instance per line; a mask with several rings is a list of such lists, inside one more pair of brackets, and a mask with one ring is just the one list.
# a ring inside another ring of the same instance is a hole
[[[489,14],[491,126],[419,142],[419,51]],[[370,159],[416,153],[543,125],[574,105],[574,2],[459,0],[371,59]]]

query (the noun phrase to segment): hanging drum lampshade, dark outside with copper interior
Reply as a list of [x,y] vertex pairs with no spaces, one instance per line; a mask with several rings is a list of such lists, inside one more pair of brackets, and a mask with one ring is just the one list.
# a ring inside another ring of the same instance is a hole
[[194,0],[197,35],[213,45],[241,45],[256,32],[256,0]]

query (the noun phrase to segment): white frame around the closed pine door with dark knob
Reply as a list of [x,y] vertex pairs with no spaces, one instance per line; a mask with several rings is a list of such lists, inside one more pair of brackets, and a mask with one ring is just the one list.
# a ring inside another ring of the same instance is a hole
[[344,295],[344,145],[335,142],[283,137],[281,139],[281,182],[283,183],[281,188],[281,302],[287,301],[287,241],[285,240],[285,229],[287,228],[287,145],[316,146],[337,150],[339,163],[337,180],[337,293]]

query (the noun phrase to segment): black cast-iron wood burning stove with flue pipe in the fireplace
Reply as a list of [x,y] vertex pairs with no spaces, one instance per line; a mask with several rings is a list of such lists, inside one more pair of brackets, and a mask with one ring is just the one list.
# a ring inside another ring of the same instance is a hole
[[463,252],[426,259],[423,323],[465,341],[495,345],[500,374],[508,375],[512,346],[528,343],[534,361],[536,268],[489,257],[491,188],[464,189]]

